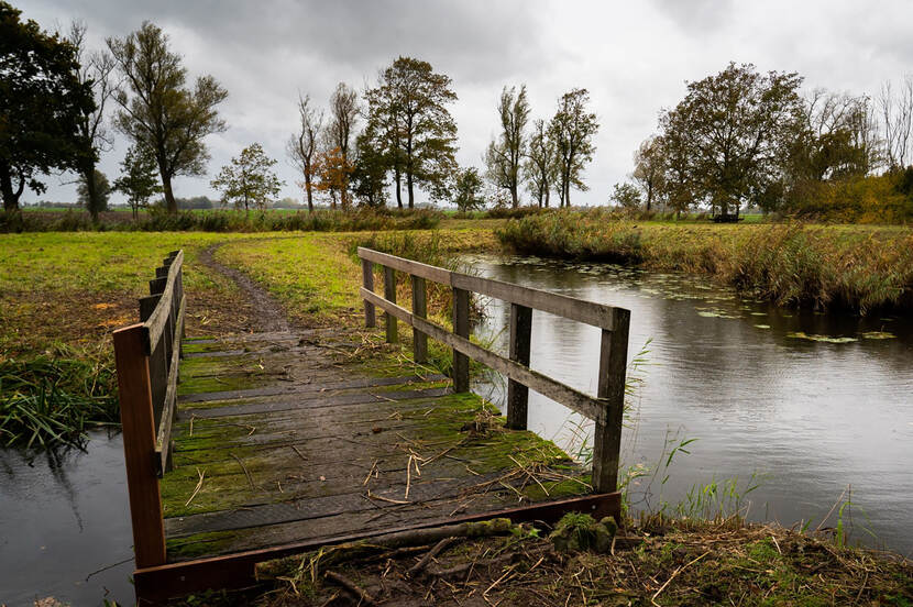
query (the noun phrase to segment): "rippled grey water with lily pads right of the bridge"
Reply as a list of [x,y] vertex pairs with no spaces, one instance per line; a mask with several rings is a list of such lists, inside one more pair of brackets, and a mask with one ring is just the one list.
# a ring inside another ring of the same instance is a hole
[[[484,276],[630,309],[629,357],[652,340],[623,439],[626,467],[658,470],[636,483],[636,506],[686,503],[690,489],[713,481],[737,478],[744,493],[760,479],[743,500],[749,518],[814,529],[849,487],[843,518],[851,516],[851,539],[913,554],[909,318],[800,313],[702,277],[607,264],[465,261]],[[509,308],[488,301],[486,313],[475,332],[506,353]],[[598,330],[544,312],[532,322],[531,366],[595,394]],[[503,382],[476,390],[499,401]],[[530,391],[531,430],[575,452],[580,423]],[[697,439],[690,454],[657,465],[686,439]],[[823,527],[836,520],[837,511]]]

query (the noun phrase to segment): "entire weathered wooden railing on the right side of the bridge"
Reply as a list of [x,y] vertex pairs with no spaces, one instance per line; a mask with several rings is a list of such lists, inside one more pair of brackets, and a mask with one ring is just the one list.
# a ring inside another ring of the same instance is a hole
[[[507,376],[507,426],[512,429],[527,427],[529,388],[594,420],[593,490],[616,490],[630,311],[501,280],[469,276],[370,249],[360,247],[359,257],[362,260],[364,280],[360,293],[364,299],[365,322],[369,327],[375,325],[375,307],[386,312],[388,342],[397,340],[397,319],[413,327],[414,354],[418,363],[424,363],[427,358],[428,336],[451,346],[453,388],[457,391],[469,390],[469,358]],[[384,268],[384,297],[374,293],[375,263]],[[396,271],[410,276],[411,311],[396,305]],[[452,332],[426,319],[426,279],[453,288]],[[509,357],[505,358],[470,341],[470,293],[510,304]],[[529,368],[534,309],[602,329],[595,397]]]

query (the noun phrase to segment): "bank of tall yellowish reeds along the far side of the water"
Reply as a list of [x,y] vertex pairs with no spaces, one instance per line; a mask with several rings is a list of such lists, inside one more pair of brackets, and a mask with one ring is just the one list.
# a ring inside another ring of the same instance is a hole
[[909,228],[676,225],[594,210],[512,220],[496,235],[520,254],[705,273],[782,306],[913,308]]

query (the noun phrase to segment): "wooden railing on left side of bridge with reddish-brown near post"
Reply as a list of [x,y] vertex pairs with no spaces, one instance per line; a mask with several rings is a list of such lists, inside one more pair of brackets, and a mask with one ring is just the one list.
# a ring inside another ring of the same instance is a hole
[[184,252],[168,254],[150,295],[140,299],[141,323],[114,331],[114,356],[136,566],[165,562],[158,478],[170,466],[178,358],[184,335]]

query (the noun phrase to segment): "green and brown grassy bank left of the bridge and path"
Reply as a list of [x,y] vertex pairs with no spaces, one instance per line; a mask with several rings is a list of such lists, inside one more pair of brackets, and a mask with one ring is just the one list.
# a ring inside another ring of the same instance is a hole
[[244,327],[234,285],[199,263],[226,235],[0,235],[0,445],[79,444],[119,422],[111,331],[136,322],[136,299],[168,251],[185,249],[196,305],[190,334]]

